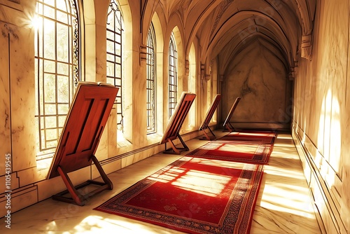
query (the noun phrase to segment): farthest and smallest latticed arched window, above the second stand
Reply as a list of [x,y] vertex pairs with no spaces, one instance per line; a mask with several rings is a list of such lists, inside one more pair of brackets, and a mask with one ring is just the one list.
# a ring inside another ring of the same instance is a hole
[[174,33],[169,43],[169,118],[174,113],[177,102],[177,50]]

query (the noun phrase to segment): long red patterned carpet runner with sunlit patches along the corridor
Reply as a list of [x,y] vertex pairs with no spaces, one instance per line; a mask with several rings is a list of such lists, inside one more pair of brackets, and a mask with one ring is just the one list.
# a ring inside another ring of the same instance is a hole
[[249,233],[274,137],[235,137],[209,142],[94,209],[185,233]]

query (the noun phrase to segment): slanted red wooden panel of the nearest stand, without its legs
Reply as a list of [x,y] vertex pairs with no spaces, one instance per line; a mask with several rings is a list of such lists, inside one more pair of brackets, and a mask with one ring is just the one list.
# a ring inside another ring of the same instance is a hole
[[48,179],[91,165],[119,88],[79,82],[52,160]]

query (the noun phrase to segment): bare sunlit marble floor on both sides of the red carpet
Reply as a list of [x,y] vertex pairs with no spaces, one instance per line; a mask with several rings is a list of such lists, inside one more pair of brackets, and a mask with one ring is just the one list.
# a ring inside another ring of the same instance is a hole
[[[221,137],[225,132],[215,134]],[[190,150],[205,143],[198,139],[186,142]],[[11,229],[5,228],[4,219],[0,219],[1,233],[181,233],[93,208],[186,153],[158,153],[109,174],[113,190],[94,195],[83,207],[51,198],[31,205],[11,215]],[[264,233],[325,233],[316,219],[300,158],[287,132],[278,132],[255,205],[251,234]]]

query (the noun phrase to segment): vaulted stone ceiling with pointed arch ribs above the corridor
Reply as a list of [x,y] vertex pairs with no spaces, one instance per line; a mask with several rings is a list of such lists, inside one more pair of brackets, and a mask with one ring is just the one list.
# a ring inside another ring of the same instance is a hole
[[298,55],[311,58],[316,0],[160,0],[166,18],[183,20],[187,48],[200,40],[201,63],[220,57],[220,70],[259,40],[293,72]]

